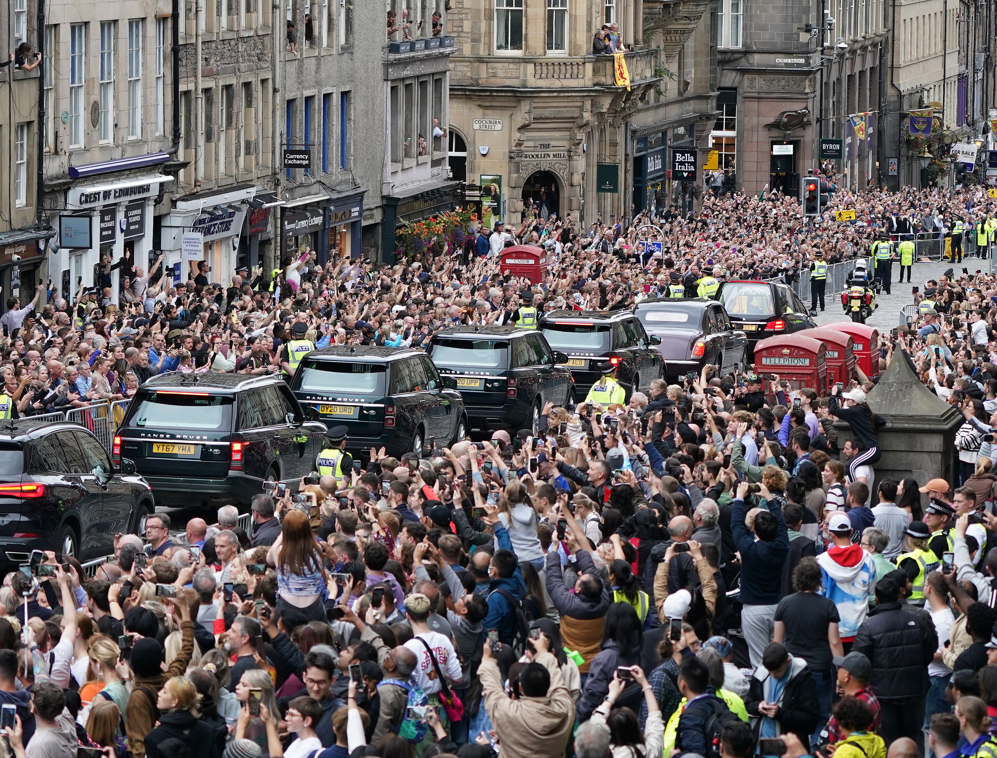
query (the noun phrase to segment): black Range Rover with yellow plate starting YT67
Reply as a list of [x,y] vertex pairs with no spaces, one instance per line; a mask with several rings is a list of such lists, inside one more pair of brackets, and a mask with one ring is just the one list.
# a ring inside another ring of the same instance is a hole
[[247,504],[266,479],[311,473],[326,433],[314,419],[275,376],[171,372],[139,388],[113,453],[161,506]]

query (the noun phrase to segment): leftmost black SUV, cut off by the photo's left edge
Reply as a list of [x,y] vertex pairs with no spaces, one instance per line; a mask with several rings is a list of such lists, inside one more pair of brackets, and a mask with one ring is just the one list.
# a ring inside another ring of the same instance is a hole
[[79,424],[22,419],[0,428],[0,564],[27,563],[33,550],[106,556],[116,534],[143,535],[153,510],[135,464],[114,466]]

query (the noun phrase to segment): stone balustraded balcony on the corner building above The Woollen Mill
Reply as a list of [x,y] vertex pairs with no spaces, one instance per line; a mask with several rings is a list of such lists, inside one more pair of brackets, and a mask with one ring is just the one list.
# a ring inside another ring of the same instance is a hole
[[[624,53],[631,86],[646,84],[657,77],[654,68],[658,62],[657,50],[638,50]],[[547,57],[492,57],[471,58],[471,65],[463,63],[451,74],[452,85],[479,87],[529,87],[529,88],[590,88],[615,87],[614,59],[611,55],[547,56]],[[468,78],[465,72],[472,73]],[[474,76],[478,74],[478,76]]]

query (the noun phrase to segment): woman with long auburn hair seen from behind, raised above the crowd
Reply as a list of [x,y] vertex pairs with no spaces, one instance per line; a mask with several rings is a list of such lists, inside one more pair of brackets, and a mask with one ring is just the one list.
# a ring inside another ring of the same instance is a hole
[[266,554],[266,563],[277,569],[277,614],[292,607],[309,621],[325,620],[325,559],[315,542],[307,514],[290,511],[280,535]]

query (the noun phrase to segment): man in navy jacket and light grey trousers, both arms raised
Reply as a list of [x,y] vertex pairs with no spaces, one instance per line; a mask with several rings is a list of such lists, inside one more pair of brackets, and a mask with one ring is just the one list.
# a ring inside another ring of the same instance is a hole
[[772,640],[783,564],[790,552],[790,535],[779,501],[769,495],[764,485],[760,494],[768,501],[770,510],[755,517],[754,534],[745,526],[747,482],[738,485],[737,494],[731,508],[731,531],[741,554],[741,628],[752,666],[757,668],[766,645]]

